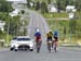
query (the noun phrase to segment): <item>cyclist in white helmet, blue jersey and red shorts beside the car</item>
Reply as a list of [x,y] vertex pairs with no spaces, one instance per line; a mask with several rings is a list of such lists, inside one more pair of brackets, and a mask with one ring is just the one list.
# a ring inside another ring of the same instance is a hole
[[39,52],[39,51],[40,51],[40,47],[41,47],[41,42],[42,42],[42,40],[41,40],[41,33],[40,33],[39,29],[36,30],[35,37],[36,37],[36,48],[37,48],[37,52]]

